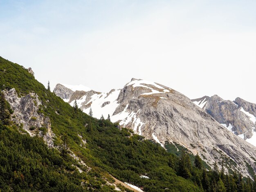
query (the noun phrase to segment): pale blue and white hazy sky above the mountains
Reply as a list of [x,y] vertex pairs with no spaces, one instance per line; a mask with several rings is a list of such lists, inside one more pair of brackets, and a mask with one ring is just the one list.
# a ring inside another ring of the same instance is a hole
[[0,0],[0,56],[45,86],[131,78],[256,103],[255,0]]

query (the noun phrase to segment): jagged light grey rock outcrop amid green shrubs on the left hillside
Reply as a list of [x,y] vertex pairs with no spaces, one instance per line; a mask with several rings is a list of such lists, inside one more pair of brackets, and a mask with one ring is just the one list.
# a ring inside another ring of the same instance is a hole
[[44,138],[48,147],[53,147],[53,138],[55,135],[52,132],[49,117],[45,117],[41,113],[38,114],[39,106],[42,104],[38,96],[34,93],[30,93],[19,98],[14,88],[9,91],[3,91],[3,93],[5,99],[13,109],[12,121],[16,122],[18,125],[22,123],[23,129],[25,129],[30,136],[36,135],[40,127],[45,127],[47,132],[43,134],[43,131],[38,130],[39,135]]

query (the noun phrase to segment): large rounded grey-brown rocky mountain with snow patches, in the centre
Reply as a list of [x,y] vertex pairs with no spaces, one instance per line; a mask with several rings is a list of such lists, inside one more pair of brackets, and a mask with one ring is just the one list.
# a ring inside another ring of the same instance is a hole
[[[249,175],[256,148],[235,136],[181,93],[158,83],[132,79],[109,93],[78,92],[70,97],[85,113],[119,121],[135,133],[160,143],[179,143],[209,164],[224,160],[230,169]],[[207,99],[207,98],[204,98]],[[245,163],[245,160],[249,163]]]

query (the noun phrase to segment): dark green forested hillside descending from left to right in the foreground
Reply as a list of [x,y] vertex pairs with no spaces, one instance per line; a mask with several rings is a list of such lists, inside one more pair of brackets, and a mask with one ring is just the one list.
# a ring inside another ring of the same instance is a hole
[[[92,118],[45,89],[24,67],[3,58],[0,58],[0,88],[15,88],[20,97],[36,93],[42,102],[38,113],[49,116],[56,135],[55,148],[49,149],[40,136],[26,134],[22,124],[13,123],[16,117],[1,94],[0,188],[3,191],[113,191],[115,187],[107,184],[113,182],[111,174],[145,192],[256,192],[256,183],[250,179],[242,179],[236,173],[225,174],[225,162],[216,159],[216,163],[222,163],[222,170],[215,164],[209,171],[199,156],[190,158],[187,150],[172,154],[171,150],[167,152],[129,129],[119,129],[117,123]],[[71,151],[88,168],[74,160]]]

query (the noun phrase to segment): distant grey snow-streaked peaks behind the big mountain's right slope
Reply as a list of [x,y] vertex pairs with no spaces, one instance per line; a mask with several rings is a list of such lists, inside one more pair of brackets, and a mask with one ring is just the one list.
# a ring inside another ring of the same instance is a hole
[[[249,103],[241,98],[234,101],[224,100],[217,95],[207,97],[202,107],[216,121],[229,131],[256,146],[255,122],[256,104]],[[194,103],[203,103],[203,98],[193,99]]]

